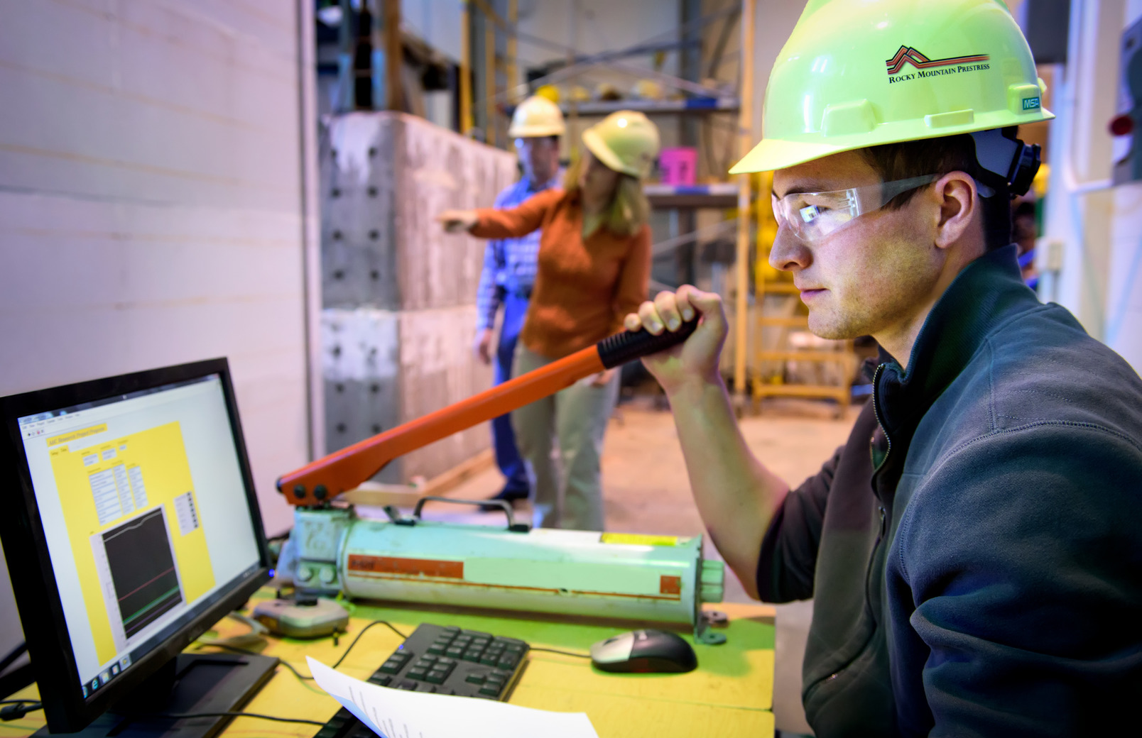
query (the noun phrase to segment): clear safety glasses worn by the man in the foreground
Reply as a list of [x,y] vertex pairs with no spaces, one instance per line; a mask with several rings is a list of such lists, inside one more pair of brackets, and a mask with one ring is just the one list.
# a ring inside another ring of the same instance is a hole
[[780,200],[773,195],[773,216],[779,227],[789,228],[805,243],[814,243],[836,233],[856,216],[884,208],[900,193],[930,185],[939,178],[939,175],[925,175],[849,189],[789,193]]

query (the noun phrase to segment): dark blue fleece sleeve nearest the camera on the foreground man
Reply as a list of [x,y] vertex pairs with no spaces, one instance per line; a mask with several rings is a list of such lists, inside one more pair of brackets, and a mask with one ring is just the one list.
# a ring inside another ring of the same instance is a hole
[[898,704],[903,733],[1113,735],[1134,722],[1140,480],[1137,439],[1047,421],[966,445],[916,488],[887,568],[892,622],[911,626],[893,688],[926,701]]

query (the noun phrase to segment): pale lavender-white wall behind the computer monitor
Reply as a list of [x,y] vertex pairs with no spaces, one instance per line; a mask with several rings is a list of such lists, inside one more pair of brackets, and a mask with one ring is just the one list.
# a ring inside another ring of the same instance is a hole
[[297,11],[43,0],[0,23],[0,395],[228,357],[272,534],[309,445]]

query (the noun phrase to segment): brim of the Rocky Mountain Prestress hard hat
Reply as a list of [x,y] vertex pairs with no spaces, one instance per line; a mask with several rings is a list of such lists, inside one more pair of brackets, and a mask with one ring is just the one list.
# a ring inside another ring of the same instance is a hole
[[[1035,123],[1048,121],[1055,115],[1051,111],[1043,108],[1036,111],[1034,115],[1026,116],[1027,120],[1011,120],[1010,114],[984,114],[980,115],[974,123],[966,125],[949,127],[941,130],[920,130],[911,121],[901,123],[887,123],[880,125],[877,135],[860,133],[855,136],[838,136],[835,141],[821,143],[820,137],[812,141],[797,141],[780,138],[763,138],[757,146],[754,146],[741,161],[730,168],[731,175],[746,175],[750,172],[769,172],[779,169],[787,169],[797,164],[804,164],[818,159],[823,159],[833,154],[879,146],[882,144],[900,144],[903,141],[922,140],[930,138],[943,138],[956,136],[957,133],[972,133],[986,131],[994,128],[1006,128],[1008,125],[1020,125],[1023,123]],[[923,125],[923,124],[922,124]]]

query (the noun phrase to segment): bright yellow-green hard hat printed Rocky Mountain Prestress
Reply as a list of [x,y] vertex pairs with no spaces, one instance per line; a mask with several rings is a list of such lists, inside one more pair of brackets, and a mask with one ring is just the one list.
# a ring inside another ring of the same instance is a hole
[[765,88],[762,141],[731,173],[1054,117],[999,0],[810,0]]

